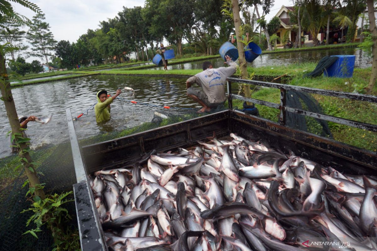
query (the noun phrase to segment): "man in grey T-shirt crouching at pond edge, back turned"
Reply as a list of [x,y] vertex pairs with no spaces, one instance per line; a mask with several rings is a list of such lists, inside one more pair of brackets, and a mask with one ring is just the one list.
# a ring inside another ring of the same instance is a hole
[[[225,56],[227,60],[224,64],[230,67],[213,68],[211,62],[203,62],[203,71],[187,79],[187,96],[198,102],[202,109],[197,113],[204,113],[225,103],[224,86],[227,78],[236,72],[237,64],[233,62],[229,56]],[[191,87],[193,83],[198,84],[203,90]]]

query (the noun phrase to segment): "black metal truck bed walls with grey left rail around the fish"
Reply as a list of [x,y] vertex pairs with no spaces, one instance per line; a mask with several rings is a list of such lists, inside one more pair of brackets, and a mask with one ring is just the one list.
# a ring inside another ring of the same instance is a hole
[[[69,116],[67,112],[67,117]],[[249,140],[262,140],[287,154],[288,150],[291,150],[298,156],[316,161],[323,166],[331,165],[337,170],[346,170],[348,173],[371,174],[377,169],[377,155],[373,152],[291,129],[260,117],[226,110],[127,137],[84,146],[81,149],[83,167],[77,167],[75,163],[75,170],[76,173],[87,175],[101,169],[123,167],[134,163],[153,149],[160,152],[197,145],[197,140],[212,136],[213,132],[219,138],[229,136],[233,132]],[[74,159],[81,158],[80,150],[73,154]],[[75,158],[75,154],[80,156]],[[81,248],[84,251],[105,250],[103,230],[98,221],[93,193],[88,184],[85,178],[74,186],[76,206],[84,211],[83,213],[77,209],[78,225],[80,234],[83,236]]]

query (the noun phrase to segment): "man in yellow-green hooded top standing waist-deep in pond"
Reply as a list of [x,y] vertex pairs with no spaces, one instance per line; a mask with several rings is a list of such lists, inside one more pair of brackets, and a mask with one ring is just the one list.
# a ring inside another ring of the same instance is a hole
[[114,96],[107,98],[106,90],[98,91],[98,103],[94,106],[95,119],[97,120],[97,123],[104,123],[110,120],[110,104],[121,93],[122,91],[118,89],[116,90],[116,94]]

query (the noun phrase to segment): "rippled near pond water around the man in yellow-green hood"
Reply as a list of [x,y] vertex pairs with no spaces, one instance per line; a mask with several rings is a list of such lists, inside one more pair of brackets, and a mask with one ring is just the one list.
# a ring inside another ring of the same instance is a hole
[[[75,121],[75,129],[79,139],[87,138],[113,130],[122,130],[151,122],[154,112],[166,112],[163,106],[178,107],[176,112],[195,112],[198,106],[186,95],[185,78],[146,78],[132,76],[95,75],[67,79],[44,84],[26,85],[12,89],[18,116],[48,116],[52,120],[47,125],[29,122],[26,133],[32,139],[31,148],[46,144],[58,144],[69,140],[67,130],[66,108],[70,108],[76,117],[90,106],[97,103],[96,93],[106,89],[115,94],[117,88],[131,87],[135,90],[132,98],[116,99],[111,105],[112,119],[104,125],[97,125],[94,110]],[[237,86],[234,86],[234,91]],[[127,96],[126,93],[120,97]],[[148,103],[153,106],[134,105]],[[197,108],[196,108],[197,107]],[[185,109],[186,108],[186,109]],[[195,108],[195,109],[187,109]],[[8,117],[3,102],[0,104],[0,158],[11,154],[6,132],[10,131]]]

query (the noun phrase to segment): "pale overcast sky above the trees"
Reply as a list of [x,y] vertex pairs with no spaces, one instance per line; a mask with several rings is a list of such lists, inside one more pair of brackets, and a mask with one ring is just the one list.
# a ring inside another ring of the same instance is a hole
[[[88,29],[97,29],[100,21],[114,18],[122,11],[123,6],[127,8],[144,6],[144,0],[31,0],[31,2],[38,5],[46,15],[46,22],[50,24],[55,40],[69,40],[71,43],[76,42]],[[35,15],[31,10],[11,3],[16,12],[30,19]],[[266,20],[270,20],[282,5],[291,6],[292,0],[275,0],[275,5]],[[262,14],[261,8],[260,13]]]

